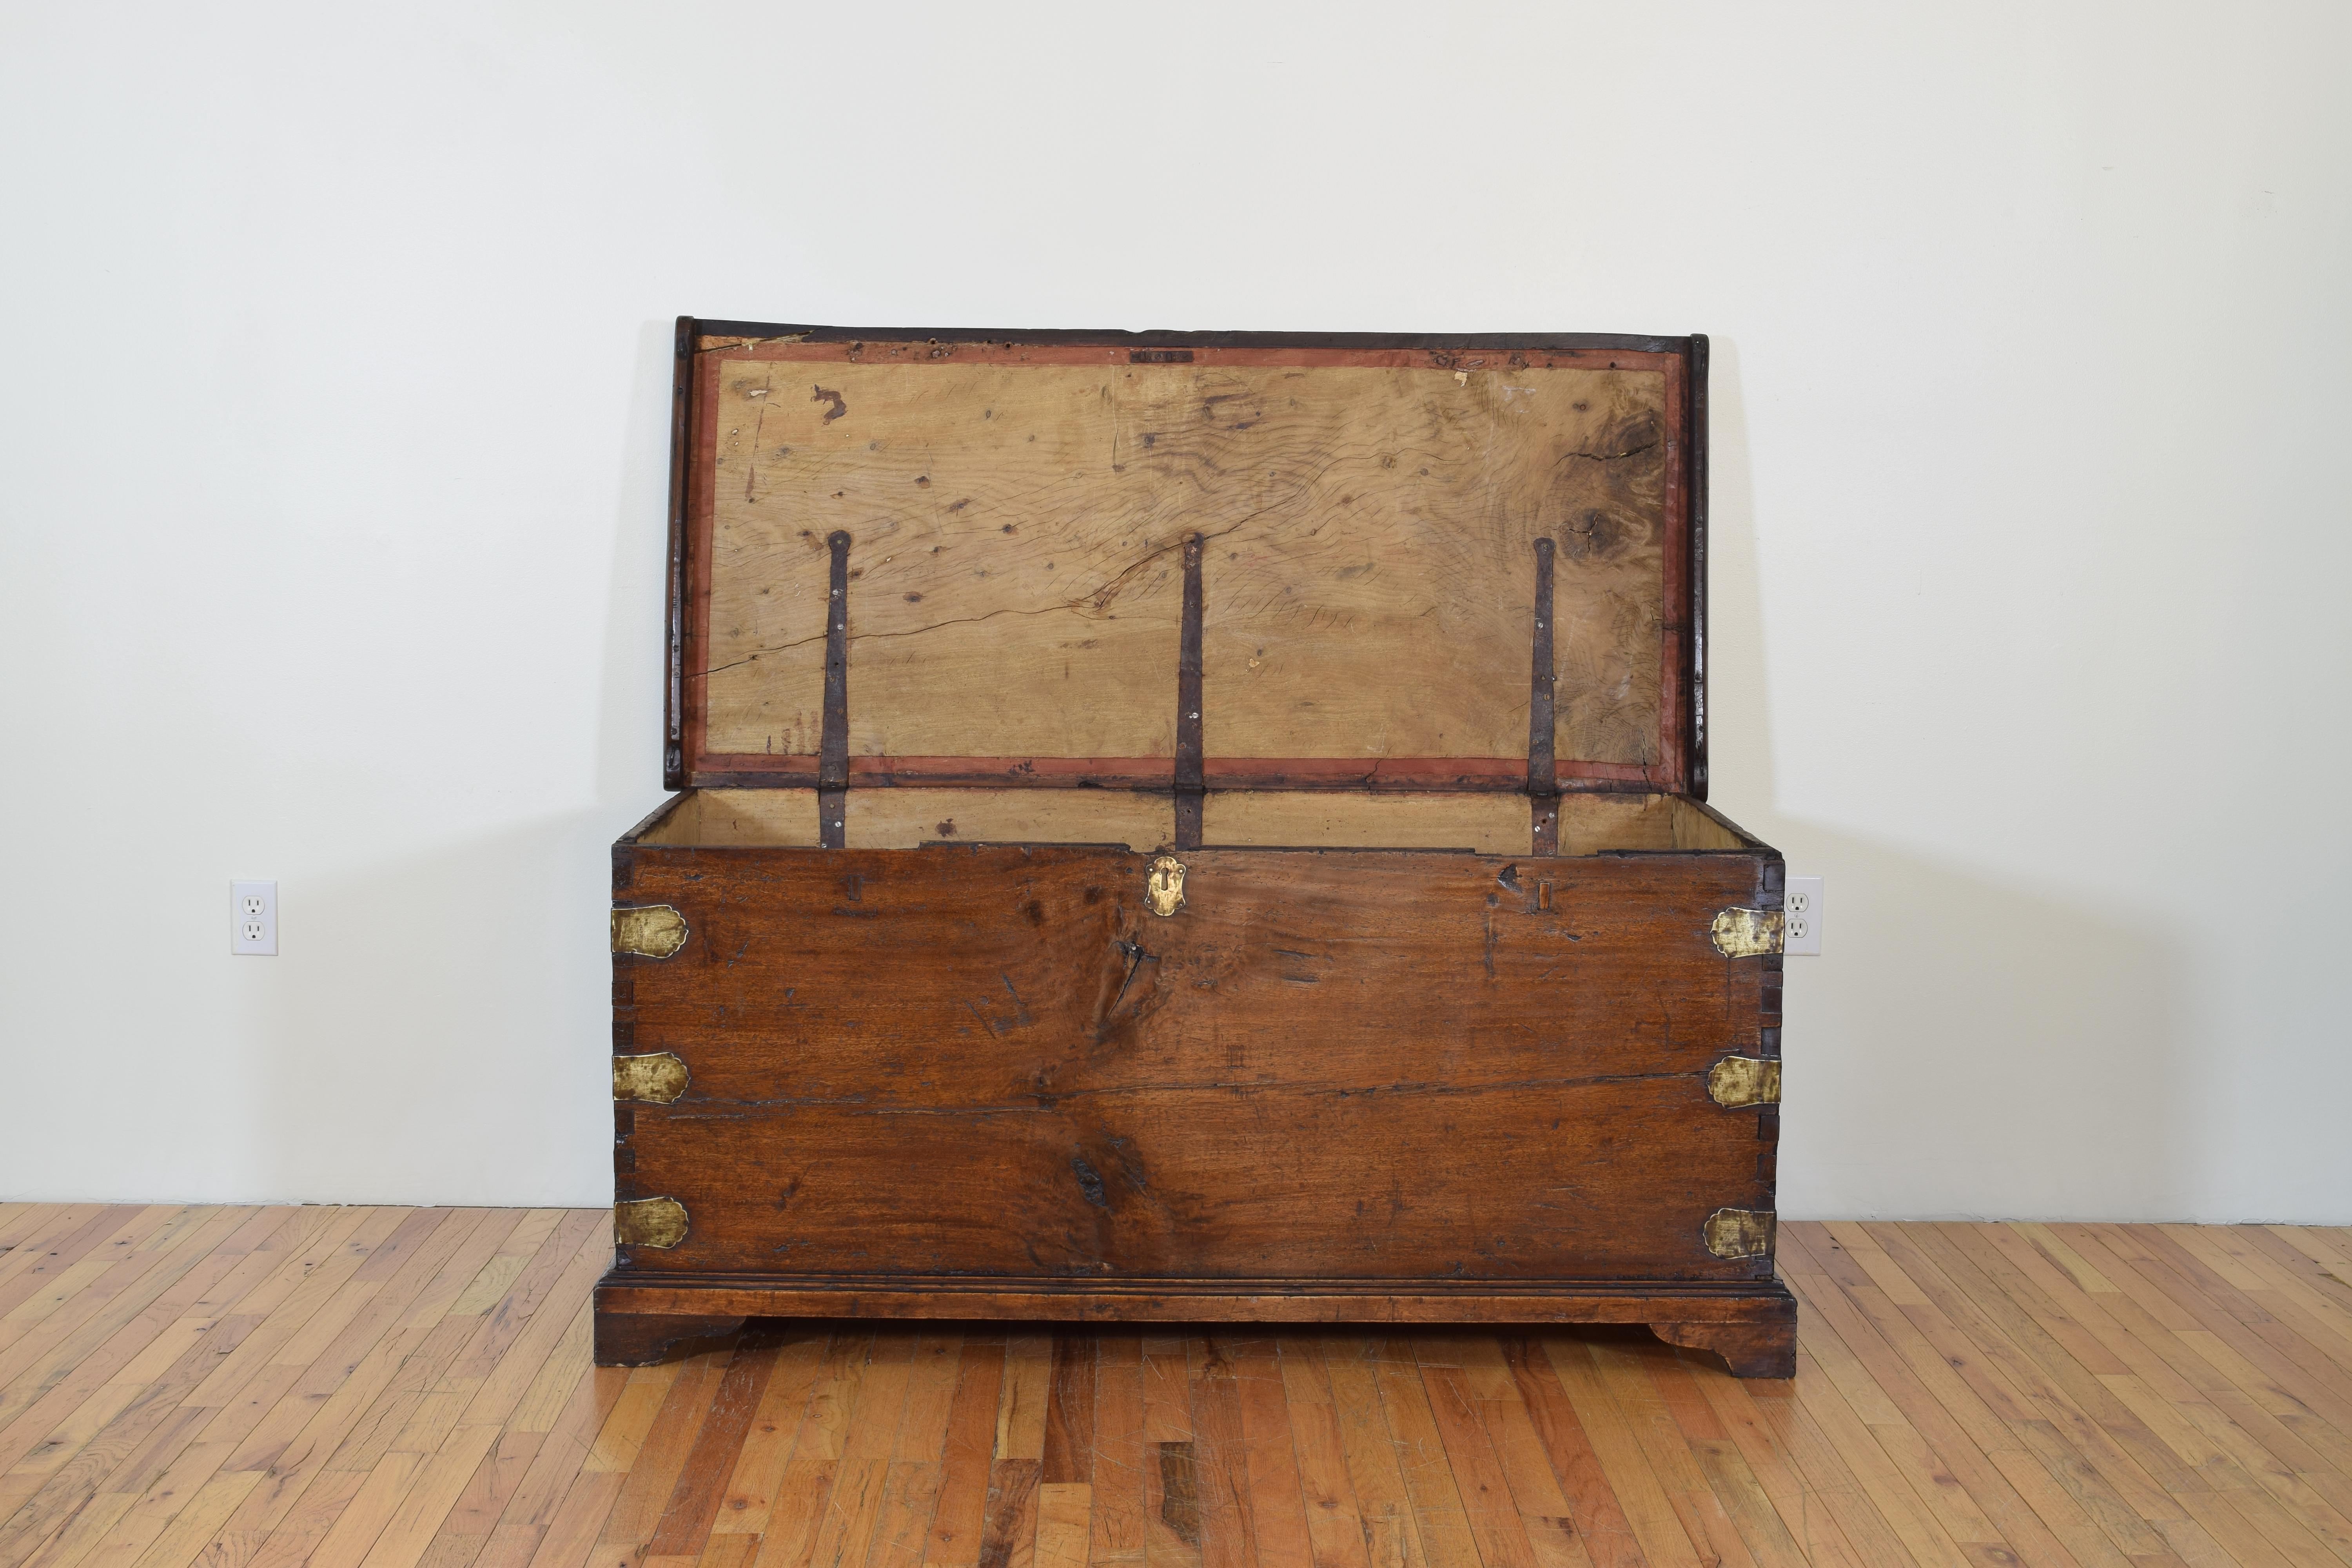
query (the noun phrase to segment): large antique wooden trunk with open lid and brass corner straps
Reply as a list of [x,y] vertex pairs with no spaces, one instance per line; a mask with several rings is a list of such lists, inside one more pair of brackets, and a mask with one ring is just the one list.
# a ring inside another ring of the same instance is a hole
[[680,322],[597,1356],[1630,1321],[1788,1375],[1705,339]]

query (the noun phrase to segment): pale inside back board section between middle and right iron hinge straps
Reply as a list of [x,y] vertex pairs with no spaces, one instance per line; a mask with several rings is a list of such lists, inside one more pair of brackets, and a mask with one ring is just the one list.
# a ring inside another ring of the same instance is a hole
[[1524,795],[1397,795],[1374,790],[1230,790],[1202,802],[1204,844],[1303,849],[1475,849],[1524,856]]

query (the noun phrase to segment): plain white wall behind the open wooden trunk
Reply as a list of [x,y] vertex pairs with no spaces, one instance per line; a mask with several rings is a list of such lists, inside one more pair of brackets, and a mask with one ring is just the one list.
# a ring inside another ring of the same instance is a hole
[[1783,1208],[2347,1222],[2347,33],[7,0],[0,1194],[609,1197],[691,310],[1717,334]]

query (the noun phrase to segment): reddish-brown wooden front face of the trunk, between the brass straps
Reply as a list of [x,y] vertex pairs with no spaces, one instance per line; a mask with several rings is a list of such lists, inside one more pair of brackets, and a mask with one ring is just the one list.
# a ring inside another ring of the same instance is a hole
[[623,1025],[691,1084],[630,1107],[621,1197],[691,1229],[628,1267],[1769,1274],[1700,1241],[1719,1206],[1769,1208],[1755,1114],[1705,1091],[1757,1039],[1764,969],[1708,936],[1750,858],[1188,865],[1160,919],[1122,851],[640,853],[626,900],[689,938],[623,959]]

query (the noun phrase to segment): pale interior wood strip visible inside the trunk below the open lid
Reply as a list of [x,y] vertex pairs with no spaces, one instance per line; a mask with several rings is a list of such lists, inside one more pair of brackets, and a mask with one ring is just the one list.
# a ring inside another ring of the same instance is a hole
[[[1174,806],[1150,790],[849,790],[851,849],[936,842],[1164,849]],[[1221,846],[1531,851],[1524,795],[1211,790],[1202,837]],[[816,844],[814,790],[694,790],[640,844]],[[1559,797],[1559,853],[1750,849],[1679,795]]]

